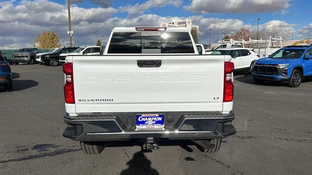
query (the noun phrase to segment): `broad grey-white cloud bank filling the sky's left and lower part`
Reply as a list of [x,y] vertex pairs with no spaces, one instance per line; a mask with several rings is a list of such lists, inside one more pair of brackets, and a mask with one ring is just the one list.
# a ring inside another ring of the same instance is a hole
[[[49,11],[44,11],[39,7],[49,8]],[[117,12],[118,9],[112,7],[86,9],[73,6],[71,17],[74,45],[95,45],[101,35],[104,35],[103,42],[105,44],[114,27],[159,26],[162,22],[180,18],[161,17],[154,14],[144,14],[132,18],[111,17]],[[185,18],[190,18],[193,24],[199,25],[199,37],[202,43],[208,42],[209,29],[212,29],[212,42],[219,40],[220,28],[221,38],[223,38],[222,31],[226,31],[227,34],[234,34],[242,27],[256,31],[255,25],[244,23],[239,19],[205,18],[204,16],[183,17],[181,19]],[[272,20],[261,24],[259,29],[262,30],[273,25],[278,25],[285,31],[293,31],[298,27],[296,24],[289,24],[285,21]],[[0,41],[6,48],[25,47],[29,43],[33,43],[36,35],[40,34],[41,31],[55,31],[59,34],[60,42],[64,39],[66,43],[68,40],[67,6],[47,0],[24,0],[17,5],[12,1],[0,2],[0,26]],[[312,24],[302,28],[301,32],[307,35],[309,32],[312,33],[309,28],[312,28]]]

